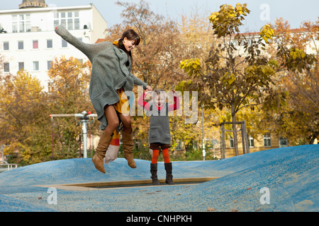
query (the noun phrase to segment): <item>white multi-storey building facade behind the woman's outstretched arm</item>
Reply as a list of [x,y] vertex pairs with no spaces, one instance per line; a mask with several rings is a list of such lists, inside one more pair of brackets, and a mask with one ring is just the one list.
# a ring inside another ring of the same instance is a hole
[[93,4],[0,10],[2,73],[16,74],[24,69],[38,78],[47,91],[50,87],[47,71],[55,58],[65,56],[87,61],[82,52],[55,33],[55,27],[60,24],[86,43],[105,37],[108,28]]

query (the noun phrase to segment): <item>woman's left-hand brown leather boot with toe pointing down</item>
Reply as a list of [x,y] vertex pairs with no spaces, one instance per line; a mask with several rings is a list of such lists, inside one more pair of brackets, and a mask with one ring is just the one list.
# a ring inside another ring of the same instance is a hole
[[97,145],[95,150],[96,154],[92,157],[92,162],[94,163],[96,169],[98,169],[100,172],[103,172],[104,174],[106,172],[104,169],[103,158],[105,157],[106,150],[108,150],[108,145],[110,145],[112,138],[113,134],[112,136],[110,136],[108,135],[108,133],[106,133],[106,131],[103,131],[100,137],[99,144]]

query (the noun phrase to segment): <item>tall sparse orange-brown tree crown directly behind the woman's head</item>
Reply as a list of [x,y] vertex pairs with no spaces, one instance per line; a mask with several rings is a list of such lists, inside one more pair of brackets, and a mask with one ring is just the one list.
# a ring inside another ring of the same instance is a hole
[[133,74],[152,85],[153,89],[172,90],[183,77],[179,71],[181,42],[177,24],[150,10],[149,4],[117,1],[122,6],[123,22],[109,30],[106,40],[113,42],[124,30],[132,28],[140,35],[141,42],[133,50]]

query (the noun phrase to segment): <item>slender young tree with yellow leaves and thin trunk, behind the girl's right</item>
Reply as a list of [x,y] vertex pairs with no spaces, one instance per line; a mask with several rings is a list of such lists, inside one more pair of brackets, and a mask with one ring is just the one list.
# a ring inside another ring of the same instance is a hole
[[[242,20],[250,13],[247,4],[235,7],[224,4],[212,13],[209,20],[220,42],[211,43],[208,57],[181,61],[180,67],[191,78],[187,88],[198,90],[198,98],[206,108],[230,109],[232,122],[244,107],[252,109],[264,102],[278,104],[285,95],[273,87],[276,61],[261,54],[274,35],[264,25],[259,36],[248,38],[241,34]],[[237,155],[237,129],[233,124],[235,154]]]

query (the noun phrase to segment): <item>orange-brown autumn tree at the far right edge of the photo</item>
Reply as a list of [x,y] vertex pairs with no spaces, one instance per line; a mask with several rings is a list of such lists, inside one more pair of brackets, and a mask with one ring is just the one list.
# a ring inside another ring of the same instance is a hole
[[272,112],[271,126],[291,145],[313,143],[319,135],[319,20],[292,30],[288,21],[277,18],[271,26],[276,35],[270,53],[279,62],[279,83],[289,93],[288,105]]

